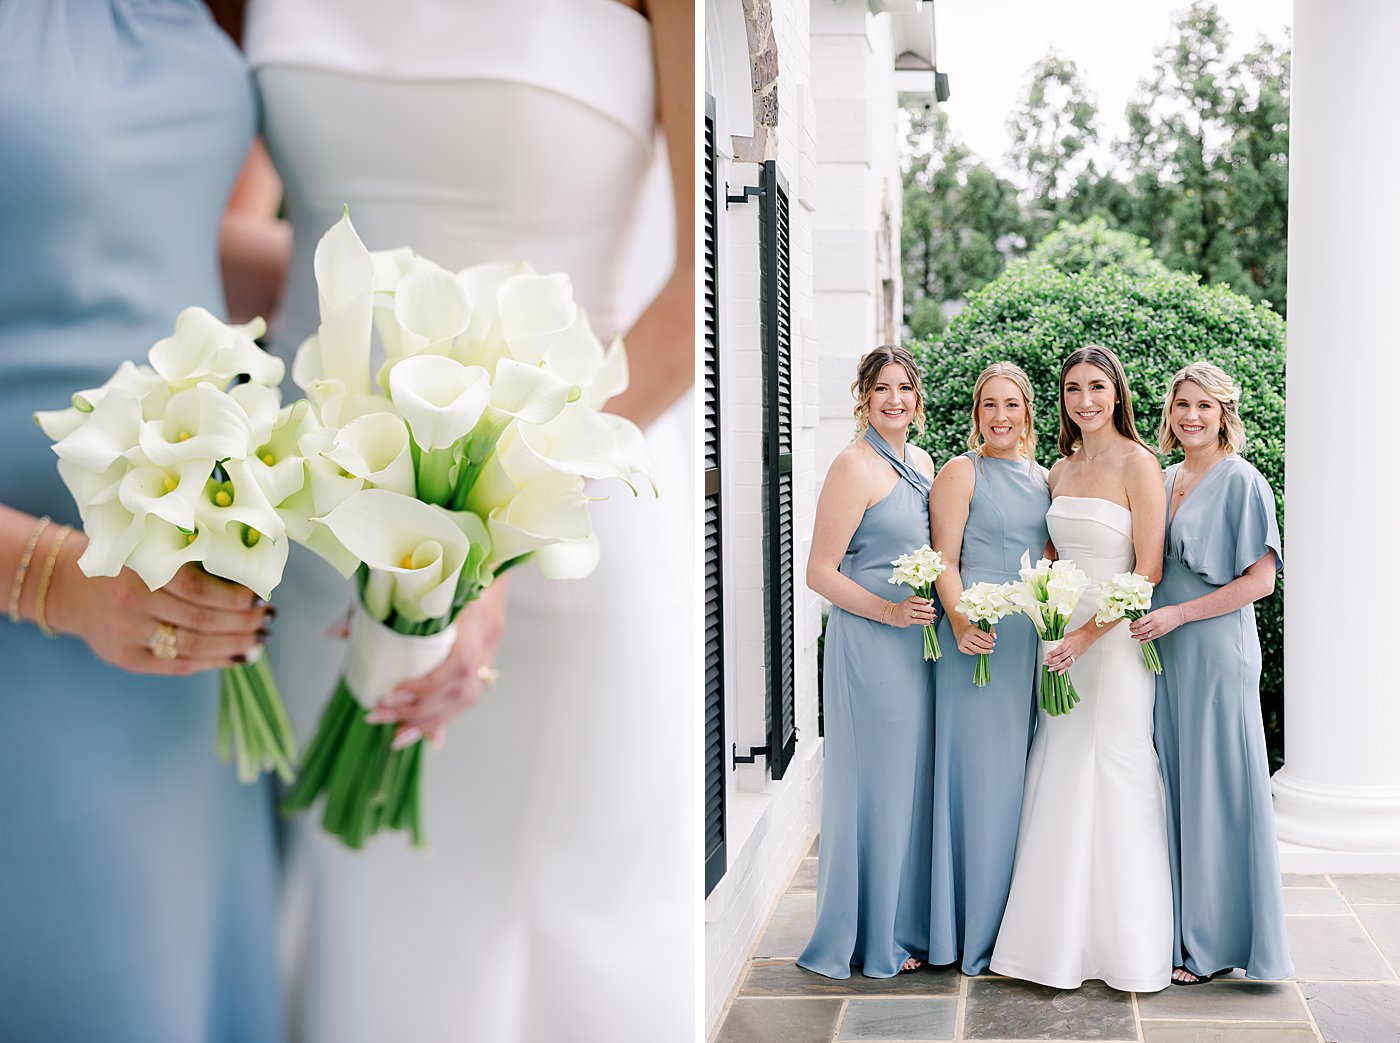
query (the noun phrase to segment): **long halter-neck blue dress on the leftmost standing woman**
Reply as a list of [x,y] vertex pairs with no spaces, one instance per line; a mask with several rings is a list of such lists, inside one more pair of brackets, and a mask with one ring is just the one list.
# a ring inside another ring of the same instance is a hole
[[[865,440],[899,475],[865,511],[841,574],[900,602],[890,561],[928,543],[932,484],[874,430]],[[892,977],[927,949],[928,745],[934,671],[917,626],[876,623],[832,606],[823,661],[826,767],[816,928],[798,965],[844,979]]]

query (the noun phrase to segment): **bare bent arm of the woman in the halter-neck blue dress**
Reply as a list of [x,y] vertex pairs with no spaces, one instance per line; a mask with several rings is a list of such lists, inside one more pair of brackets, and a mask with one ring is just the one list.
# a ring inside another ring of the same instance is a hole
[[896,603],[871,594],[840,571],[851,538],[871,503],[869,479],[860,459],[850,451],[837,455],[826,473],[822,496],[816,501],[816,524],[812,528],[812,550],[806,559],[806,585],[853,616],[875,623],[907,627],[910,623],[931,623],[932,603],[909,596]]

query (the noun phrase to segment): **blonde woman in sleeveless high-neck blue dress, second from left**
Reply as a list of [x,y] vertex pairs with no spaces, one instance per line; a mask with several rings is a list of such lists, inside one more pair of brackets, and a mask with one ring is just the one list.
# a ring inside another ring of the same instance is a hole
[[[952,606],[974,582],[1015,580],[1021,554],[1039,557],[1049,542],[1050,486],[1035,459],[1030,400],[1019,365],[993,363],[981,371],[970,451],[944,465],[930,503],[934,549],[946,571],[938,578],[945,610],[935,668],[928,960],[960,956],[965,974],[987,970],[1011,889],[1039,643],[1023,616],[984,633]],[[973,657],[993,648],[991,682],[976,687]]]

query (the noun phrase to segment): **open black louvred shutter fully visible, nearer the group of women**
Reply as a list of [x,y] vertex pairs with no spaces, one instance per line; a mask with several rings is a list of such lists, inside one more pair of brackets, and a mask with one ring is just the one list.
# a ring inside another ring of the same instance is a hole
[[763,581],[769,766],[781,778],[797,743],[792,577],[792,318],[788,199],[777,164],[763,164],[759,272],[763,284]]

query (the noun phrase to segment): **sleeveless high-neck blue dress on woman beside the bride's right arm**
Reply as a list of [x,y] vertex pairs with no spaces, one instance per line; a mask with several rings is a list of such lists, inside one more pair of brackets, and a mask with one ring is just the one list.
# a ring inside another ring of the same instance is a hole
[[[966,454],[976,472],[959,554],[963,587],[1016,580],[1021,556],[1044,553],[1050,486],[1035,462]],[[949,606],[949,612],[952,612]],[[997,624],[991,682],[972,683],[976,657],[958,651],[945,612],[934,700],[932,889],[928,962],[991,962],[1011,890],[1026,753],[1035,734],[1039,638],[1025,616]]]

